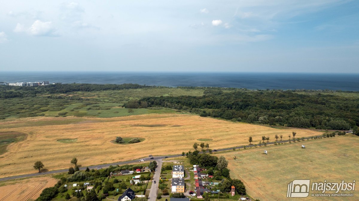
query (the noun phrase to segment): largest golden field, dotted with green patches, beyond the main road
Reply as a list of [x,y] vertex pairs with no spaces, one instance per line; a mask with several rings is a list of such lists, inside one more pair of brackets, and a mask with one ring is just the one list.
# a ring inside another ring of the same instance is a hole
[[[40,160],[47,170],[69,168],[70,160],[77,157],[81,166],[98,165],[151,155],[178,154],[193,150],[200,138],[210,138],[211,149],[248,144],[252,136],[258,143],[261,136],[292,131],[296,137],[321,134],[300,129],[275,129],[244,123],[232,123],[213,118],[185,114],[148,114],[116,118],[26,118],[0,121],[0,132],[17,131],[28,134],[22,142],[10,144],[8,152],[0,156],[0,177],[33,173],[35,161]],[[114,144],[116,136],[141,137],[143,142]],[[76,139],[61,143],[59,139]]]

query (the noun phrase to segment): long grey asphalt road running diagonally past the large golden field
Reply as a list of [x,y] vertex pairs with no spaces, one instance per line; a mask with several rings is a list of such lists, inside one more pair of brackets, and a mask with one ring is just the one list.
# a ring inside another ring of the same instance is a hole
[[[314,136],[313,136],[314,137]],[[311,137],[306,137],[307,138],[311,138]],[[288,142],[289,140],[283,140],[283,141],[279,141],[279,142]],[[274,142],[267,142],[267,144],[274,144]],[[254,144],[251,145],[246,145],[246,147],[254,147]],[[227,150],[231,150],[233,148],[243,148],[244,146],[239,146],[239,147],[231,147],[231,148],[223,148],[223,149],[213,149],[216,151],[227,151]],[[202,152],[200,152],[202,153]],[[137,160],[133,160],[133,161],[123,161],[123,162],[117,162],[117,163],[108,163],[108,164],[104,164],[104,165],[97,165],[97,166],[89,166],[88,168],[90,169],[98,169],[98,168],[107,168],[111,165],[125,165],[128,163],[136,163],[136,162],[143,162],[143,161],[151,161],[151,160],[161,160],[163,158],[173,158],[173,157],[179,157],[182,156],[181,154],[177,154],[177,155],[171,155],[171,156],[158,156],[158,157],[146,157],[146,158],[141,158],[141,159],[137,159]],[[162,166],[162,162],[160,163]],[[85,170],[86,167],[81,167],[80,170]],[[161,168],[157,168],[157,170],[161,170]],[[50,174],[54,174],[54,173],[62,173],[62,172],[68,172],[68,169],[63,169],[63,170],[53,170],[53,171],[48,171],[48,172],[41,172],[41,173],[32,173],[32,174],[27,174],[27,175],[18,175],[18,176],[11,176],[11,177],[3,177],[0,178],[0,181],[6,181],[6,180],[13,180],[13,179],[17,179],[17,178],[24,178],[24,177],[33,177],[33,176],[40,176],[40,175],[50,175]],[[157,182],[157,181],[156,181]]]

